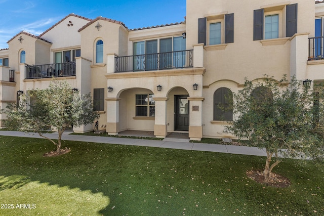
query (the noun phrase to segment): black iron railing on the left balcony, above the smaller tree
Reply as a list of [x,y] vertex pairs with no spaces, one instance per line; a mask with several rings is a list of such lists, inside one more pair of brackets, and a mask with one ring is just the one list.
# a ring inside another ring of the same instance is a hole
[[75,62],[46,65],[27,65],[25,79],[75,76]]

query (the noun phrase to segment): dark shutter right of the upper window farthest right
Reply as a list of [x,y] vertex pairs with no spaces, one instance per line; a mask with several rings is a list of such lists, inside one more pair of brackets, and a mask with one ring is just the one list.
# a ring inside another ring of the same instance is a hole
[[286,37],[297,33],[297,4],[286,6]]

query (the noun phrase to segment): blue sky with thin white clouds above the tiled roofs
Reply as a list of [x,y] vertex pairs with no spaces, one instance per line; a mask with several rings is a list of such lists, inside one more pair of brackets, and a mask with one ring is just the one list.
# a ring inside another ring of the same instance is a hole
[[39,35],[71,13],[114,19],[129,29],[182,22],[186,0],[0,0],[0,9],[0,49],[5,49],[20,31]]

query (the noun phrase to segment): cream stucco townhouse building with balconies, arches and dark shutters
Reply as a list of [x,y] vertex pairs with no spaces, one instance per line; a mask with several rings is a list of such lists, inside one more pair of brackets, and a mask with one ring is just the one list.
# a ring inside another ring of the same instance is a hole
[[99,129],[109,134],[233,137],[223,132],[233,118],[225,98],[245,77],[324,79],[324,4],[317,3],[188,0],[184,22],[131,30],[70,14],[39,36],[18,33],[0,50],[0,106],[18,91],[47,88],[55,76],[91,92]]

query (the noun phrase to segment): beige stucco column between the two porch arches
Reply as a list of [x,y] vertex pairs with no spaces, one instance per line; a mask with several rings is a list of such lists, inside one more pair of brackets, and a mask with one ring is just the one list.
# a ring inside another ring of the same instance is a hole
[[169,98],[153,98],[155,101],[154,136],[165,138],[167,136],[167,101]]

